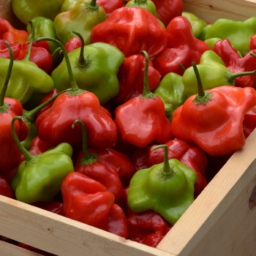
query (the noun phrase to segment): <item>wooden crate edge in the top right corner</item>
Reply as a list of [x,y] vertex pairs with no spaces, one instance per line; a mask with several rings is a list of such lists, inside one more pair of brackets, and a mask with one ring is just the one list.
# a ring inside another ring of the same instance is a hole
[[183,0],[184,10],[193,12],[203,20],[214,22],[218,18],[244,21],[256,15],[255,1],[244,0]]

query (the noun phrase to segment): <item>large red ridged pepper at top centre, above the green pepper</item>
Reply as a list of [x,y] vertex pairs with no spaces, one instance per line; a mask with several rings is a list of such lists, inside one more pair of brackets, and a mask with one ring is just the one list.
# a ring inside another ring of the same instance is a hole
[[165,29],[151,12],[138,5],[121,7],[112,12],[107,20],[91,30],[91,42],[106,42],[116,46],[124,56],[139,54],[146,50],[150,58],[165,49]]

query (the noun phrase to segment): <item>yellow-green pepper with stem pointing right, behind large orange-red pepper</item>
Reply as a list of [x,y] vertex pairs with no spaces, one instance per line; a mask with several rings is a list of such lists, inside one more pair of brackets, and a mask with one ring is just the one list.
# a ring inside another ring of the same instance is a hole
[[[244,75],[255,75],[255,71],[248,72],[230,72],[225,67],[222,58],[213,50],[206,50],[201,56],[200,64],[197,64],[204,89],[214,89],[219,86],[236,86],[236,78]],[[214,71],[214,72],[213,72]],[[194,67],[189,67],[182,76],[184,89],[188,97],[197,94],[197,78]]]

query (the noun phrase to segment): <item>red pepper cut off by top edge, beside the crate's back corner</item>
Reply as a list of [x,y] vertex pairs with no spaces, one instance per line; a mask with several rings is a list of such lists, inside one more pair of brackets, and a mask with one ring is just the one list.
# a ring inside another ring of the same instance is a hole
[[181,16],[183,12],[182,0],[151,0],[157,8],[157,18],[167,26],[173,18]]

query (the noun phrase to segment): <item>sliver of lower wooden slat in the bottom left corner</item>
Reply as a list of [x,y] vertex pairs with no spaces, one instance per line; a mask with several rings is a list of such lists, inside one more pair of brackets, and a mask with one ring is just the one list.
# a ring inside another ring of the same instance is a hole
[[[40,256],[36,252],[31,252],[27,249],[15,246],[4,241],[0,241],[0,255],[1,256]],[[41,255],[42,256],[42,255]]]

